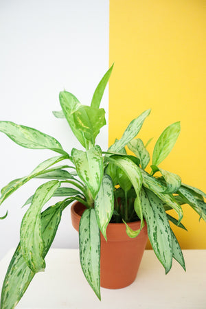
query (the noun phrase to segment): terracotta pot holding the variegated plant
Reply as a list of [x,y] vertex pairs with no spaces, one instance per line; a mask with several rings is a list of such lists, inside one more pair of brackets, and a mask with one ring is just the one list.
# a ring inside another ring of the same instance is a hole
[[[79,202],[71,206],[71,222],[78,231],[80,218],[86,208]],[[130,222],[129,227],[139,229],[140,222]],[[109,223],[107,242],[101,233],[100,278],[103,288],[124,288],[135,281],[148,240],[146,222],[137,238],[129,238],[124,223]]]

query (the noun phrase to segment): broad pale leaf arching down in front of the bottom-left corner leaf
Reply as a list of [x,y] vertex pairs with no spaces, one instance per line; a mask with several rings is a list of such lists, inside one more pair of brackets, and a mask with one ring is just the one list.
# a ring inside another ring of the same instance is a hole
[[32,204],[23,216],[20,229],[21,252],[27,266],[34,273],[43,271],[45,260],[43,258],[43,236],[41,231],[41,209],[55,190],[60,186],[58,181],[49,181],[38,187]]

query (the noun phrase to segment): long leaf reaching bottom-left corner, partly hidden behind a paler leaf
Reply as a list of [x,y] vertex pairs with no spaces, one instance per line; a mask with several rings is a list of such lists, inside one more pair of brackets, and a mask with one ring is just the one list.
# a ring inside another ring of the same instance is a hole
[[[61,203],[47,208],[41,214],[41,227],[43,233],[43,258],[47,255],[52,245],[58,225],[61,218]],[[32,281],[35,273],[27,266],[22,252],[21,246],[18,245],[8,271],[5,275],[3,287],[1,290],[1,309],[14,308],[25,293],[25,290]]]

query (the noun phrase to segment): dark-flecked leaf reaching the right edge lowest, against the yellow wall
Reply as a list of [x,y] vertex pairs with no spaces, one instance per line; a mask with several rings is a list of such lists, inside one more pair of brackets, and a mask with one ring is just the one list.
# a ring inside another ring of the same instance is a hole
[[206,204],[203,201],[196,200],[186,187],[180,187],[178,194],[185,198],[185,203],[189,204],[200,215],[200,219],[203,218],[206,221],[206,207],[204,207]]

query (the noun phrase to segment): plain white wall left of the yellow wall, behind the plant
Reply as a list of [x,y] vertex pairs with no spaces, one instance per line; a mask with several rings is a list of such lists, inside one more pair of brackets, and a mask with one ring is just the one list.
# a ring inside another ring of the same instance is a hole
[[[93,91],[108,69],[108,0],[1,0],[0,1],[0,119],[31,126],[52,135],[67,152],[81,148],[60,110],[58,93],[63,89],[90,104]],[[108,90],[102,107],[108,116]],[[107,126],[98,143],[106,150]],[[30,174],[49,157],[50,150],[30,150],[0,133],[0,187]],[[14,192],[0,206],[0,259],[19,243],[21,208],[36,187],[34,179]],[[52,200],[49,205],[56,202]],[[65,209],[53,247],[76,248],[78,235]]]

